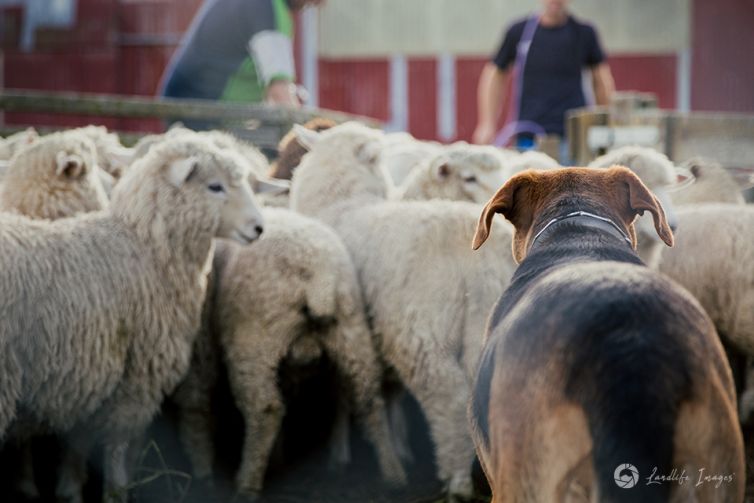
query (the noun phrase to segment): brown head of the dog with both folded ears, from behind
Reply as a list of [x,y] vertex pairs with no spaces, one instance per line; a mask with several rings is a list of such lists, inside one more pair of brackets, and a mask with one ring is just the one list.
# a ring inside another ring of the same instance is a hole
[[482,246],[490,234],[495,213],[500,213],[516,228],[513,257],[521,262],[538,230],[551,219],[576,210],[596,213],[622,226],[634,249],[634,220],[649,211],[657,234],[665,244],[673,246],[673,233],[657,198],[628,168],[614,166],[607,170],[529,170],[515,175],[484,207],[473,248]]

